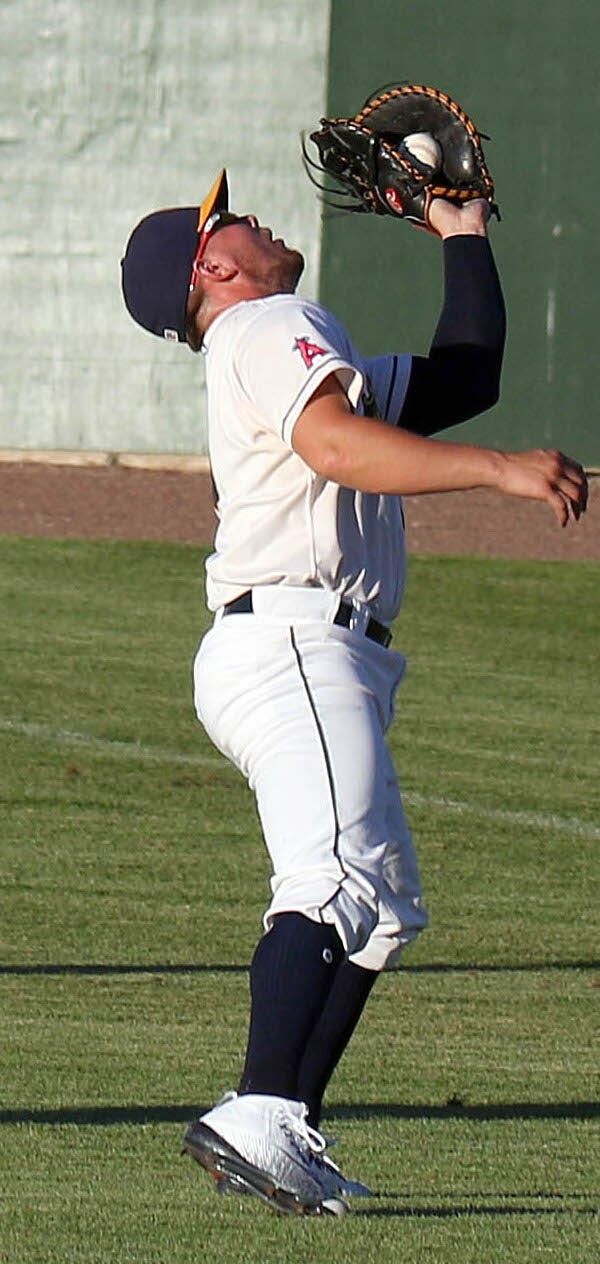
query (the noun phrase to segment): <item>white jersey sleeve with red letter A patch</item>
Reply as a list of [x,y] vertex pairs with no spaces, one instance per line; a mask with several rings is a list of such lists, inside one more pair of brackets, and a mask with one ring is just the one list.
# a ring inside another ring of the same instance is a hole
[[351,363],[339,327],[301,303],[263,312],[236,349],[241,389],[268,430],[292,446],[294,425],[315,391],[335,373],[356,408],[364,378]]

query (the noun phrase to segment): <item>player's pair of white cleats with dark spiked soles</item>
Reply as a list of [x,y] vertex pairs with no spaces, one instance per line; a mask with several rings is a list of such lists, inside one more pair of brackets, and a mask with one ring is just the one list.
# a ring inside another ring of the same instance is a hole
[[345,1196],[366,1186],[346,1181],[323,1152],[303,1102],[261,1093],[227,1093],[188,1124],[183,1153],[215,1179],[221,1193],[253,1193],[289,1215],[344,1216]]

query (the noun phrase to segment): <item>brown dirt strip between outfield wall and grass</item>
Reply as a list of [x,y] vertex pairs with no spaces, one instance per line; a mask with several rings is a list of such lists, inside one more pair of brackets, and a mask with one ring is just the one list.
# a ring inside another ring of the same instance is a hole
[[[566,530],[546,504],[486,490],[408,497],[405,516],[416,554],[600,559],[600,478],[585,518]],[[213,531],[206,473],[0,463],[0,533],[208,545]]]

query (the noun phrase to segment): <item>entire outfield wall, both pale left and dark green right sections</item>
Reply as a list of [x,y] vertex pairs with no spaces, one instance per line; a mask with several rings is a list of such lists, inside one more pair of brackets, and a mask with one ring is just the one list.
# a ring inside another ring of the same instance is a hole
[[592,0],[0,0],[0,447],[203,450],[202,358],[133,325],[119,259],[139,217],[197,202],[221,164],[361,348],[426,351],[438,243],[322,219],[298,144],[326,106],[413,78],[491,134],[503,210],[503,398],[461,434],[600,465],[599,37]]

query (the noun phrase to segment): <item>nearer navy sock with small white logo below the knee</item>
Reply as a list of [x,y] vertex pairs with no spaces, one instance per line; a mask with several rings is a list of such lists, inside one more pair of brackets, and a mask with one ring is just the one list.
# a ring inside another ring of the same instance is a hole
[[335,927],[280,913],[250,966],[250,1031],[240,1093],[298,1097],[304,1047],[344,957]]

